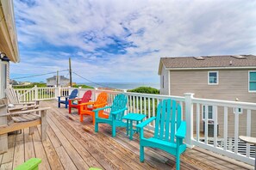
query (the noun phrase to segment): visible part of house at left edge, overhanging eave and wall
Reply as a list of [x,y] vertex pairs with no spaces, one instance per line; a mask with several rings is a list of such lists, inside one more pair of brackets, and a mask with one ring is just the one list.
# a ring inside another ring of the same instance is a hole
[[9,60],[19,62],[13,2],[0,0],[0,99],[9,85]]

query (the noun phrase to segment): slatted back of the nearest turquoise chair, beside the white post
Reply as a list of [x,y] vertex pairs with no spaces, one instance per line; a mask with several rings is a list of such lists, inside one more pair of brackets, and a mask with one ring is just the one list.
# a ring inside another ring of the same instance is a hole
[[176,100],[159,102],[154,137],[174,143],[176,131],[181,123],[181,107]]

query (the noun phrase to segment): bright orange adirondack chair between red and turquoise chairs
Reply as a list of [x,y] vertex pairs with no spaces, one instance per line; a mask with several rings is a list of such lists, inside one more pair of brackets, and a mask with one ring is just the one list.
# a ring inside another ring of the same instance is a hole
[[[107,105],[107,103],[108,103],[108,94],[105,92],[102,92],[102,93],[98,94],[96,101],[94,101],[94,102],[91,101],[91,102],[80,104],[79,105],[80,106],[80,109],[79,109],[80,121],[83,122],[84,115],[91,115],[92,123],[95,124],[95,112],[93,112],[92,110],[104,107]],[[91,107],[88,107],[90,105],[91,105]],[[100,118],[109,118],[109,115],[103,114],[103,111],[99,111],[98,116]]]

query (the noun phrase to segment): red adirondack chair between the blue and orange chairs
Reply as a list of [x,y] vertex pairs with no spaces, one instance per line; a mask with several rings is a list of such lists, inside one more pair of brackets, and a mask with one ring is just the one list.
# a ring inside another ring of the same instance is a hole
[[[68,100],[68,112],[71,113],[72,108],[78,109],[78,114],[80,113],[80,104],[87,103],[91,100],[91,90],[84,93],[82,98],[75,98]],[[76,103],[77,102],[77,103]]]

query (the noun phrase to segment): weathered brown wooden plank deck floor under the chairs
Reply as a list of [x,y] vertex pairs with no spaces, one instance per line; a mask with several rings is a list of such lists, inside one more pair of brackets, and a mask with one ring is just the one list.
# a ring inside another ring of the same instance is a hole
[[[28,129],[9,135],[9,151],[0,155],[0,169],[13,169],[31,157],[42,159],[40,169],[175,169],[175,158],[161,150],[145,148],[144,163],[140,163],[138,135],[130,141],[125,129],[118,129],[111,137],[111,128],[100,124],[94,132],[91,118],[78,120],[77,112],[69,117],[68,110],[57,108],[55,101],[41,102],[50,106],[47,112],[47,141],[41,142],[40,126],[34,135]],[[247,169],[240,161],[215,155],[203,149],[187,149],[181,156],[181,169]]]

